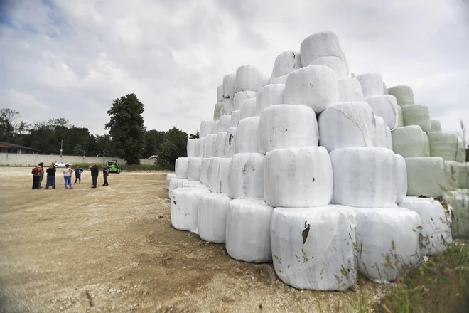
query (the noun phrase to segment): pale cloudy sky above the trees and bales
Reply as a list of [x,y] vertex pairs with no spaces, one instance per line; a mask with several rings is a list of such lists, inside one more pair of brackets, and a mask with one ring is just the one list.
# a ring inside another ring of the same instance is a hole
[[148,129],[194,133],[223,75],[335,32],[355,74],[410,85],[443,128],[469,128],[469,0],[0,0],[0,108],[103,134],[134,92]]

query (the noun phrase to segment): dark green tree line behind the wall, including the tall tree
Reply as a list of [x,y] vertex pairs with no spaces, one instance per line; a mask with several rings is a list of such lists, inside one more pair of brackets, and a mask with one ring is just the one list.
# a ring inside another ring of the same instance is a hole
[[43,154],[119,157],[126,164],[157,156],[156,163],[173,166],[178,157],[186,157],[188,139],[198,138],[177,127],[167,132],[144,127],[144,104],[129,94],[112,100],[105,125],[108,134],[90,134],[89,129],[75,127],[63,117],[28,124],[20,120],[18,110],[0,110],[0,141],[40,150]]

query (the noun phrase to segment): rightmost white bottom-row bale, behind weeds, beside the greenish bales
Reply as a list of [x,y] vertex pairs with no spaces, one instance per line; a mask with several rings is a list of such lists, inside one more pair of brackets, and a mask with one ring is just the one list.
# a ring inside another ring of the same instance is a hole
[[419,214],[424,255],[443,253],[446,247],[453,243],[450,229],[451,213],[446,211],[441,203],[433,198],[407,197],[399,206]]

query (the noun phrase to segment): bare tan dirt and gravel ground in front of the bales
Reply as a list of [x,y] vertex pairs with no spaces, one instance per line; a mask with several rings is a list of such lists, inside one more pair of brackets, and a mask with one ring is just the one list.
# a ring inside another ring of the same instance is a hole
[[[85,171],[65,190],[58,172],[58,189],[38,191],[30,173],[0,167],[0,312],[344,312],[357,299],[295,290],[271,264],[173,229],[166,173],[90,189]],[[376,299],[389,285],[362,290]]]

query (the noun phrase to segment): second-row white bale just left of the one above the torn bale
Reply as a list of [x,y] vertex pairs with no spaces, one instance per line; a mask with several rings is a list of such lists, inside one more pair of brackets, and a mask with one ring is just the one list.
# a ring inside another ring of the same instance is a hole
[[264,198],[264,154],[234,154],[228,176],[230,198]]

